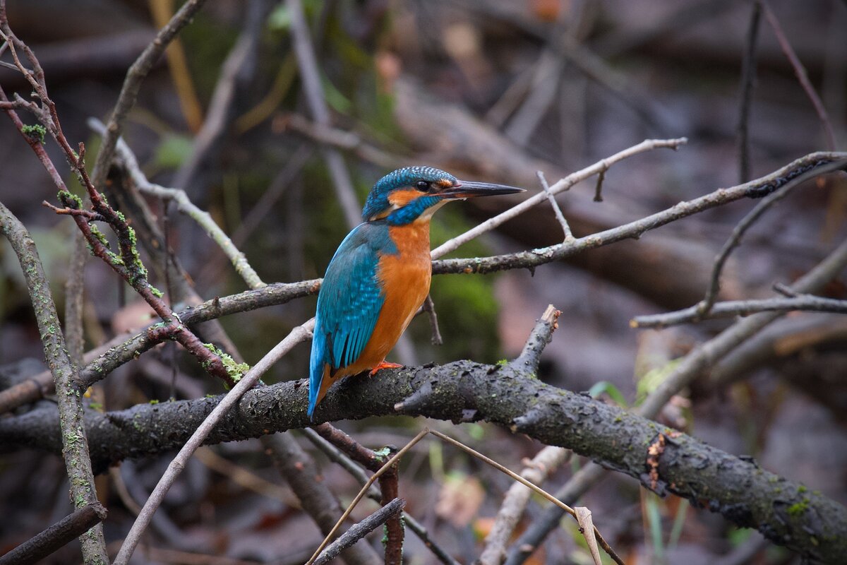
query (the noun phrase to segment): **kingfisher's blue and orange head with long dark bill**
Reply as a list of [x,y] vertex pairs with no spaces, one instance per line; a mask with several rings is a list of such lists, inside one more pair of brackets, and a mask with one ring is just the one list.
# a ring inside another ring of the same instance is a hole
[[362,211],[366,222],[385,219],[389,224],[411,224],[429,219],[446,202],[473,197],[523,192],[523,188],[458,180],[432,167],[404,167],[379,179]]

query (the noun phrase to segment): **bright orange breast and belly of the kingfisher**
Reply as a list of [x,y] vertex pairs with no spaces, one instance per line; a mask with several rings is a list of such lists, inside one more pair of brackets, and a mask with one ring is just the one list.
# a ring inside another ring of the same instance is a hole
[[389,230],[399,253],[379,258],[377,274],[385,291],[385,302],[374,333],[357,362],[340,369],[335,377],[361,373],[384,361],[429,294],[432,278],[429,219],[392,226]]

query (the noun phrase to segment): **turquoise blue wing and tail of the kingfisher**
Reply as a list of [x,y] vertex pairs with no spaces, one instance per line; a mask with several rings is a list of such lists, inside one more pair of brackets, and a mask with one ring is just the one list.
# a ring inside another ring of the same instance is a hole
[[374,332],[385,302],[377,268],[387,242],[387,230],[362,224],[347,235],[329,262],[318,293],[309,363],[310,418],[318,404],[324,365],[335,370],[354,363]]

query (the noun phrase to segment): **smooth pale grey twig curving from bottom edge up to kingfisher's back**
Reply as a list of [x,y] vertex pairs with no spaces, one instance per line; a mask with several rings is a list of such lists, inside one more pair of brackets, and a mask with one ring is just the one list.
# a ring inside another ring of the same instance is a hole
[[191,455],[194,451],[197,451],[199,446],[202,445],[203,440],[205,440],[209,433],[215,428],[220,419],[235,406],[235,403],[238,402],[246,391],[250,390],[253,385],[256,385],[261,376],[268,370],[268,368],[279,361],[280,357],[291,351],[291,348],[301,341],[305,341],[311,337],[313,327],[314,319],[310,319],[305,324],[297,326],[294,330],[291,330],[291,333],[287,335],[283,341],[280,341],[280,343],[274,346],[274,348],[265,354],[265,356],[262,357],[258,363],[253,366],[253,368],[241,377],[238,384],[235,385],[226,396],[224,396],[223,400],[214,407],[212,413],[203,420],[203,423],[197,428],[194,434],[191,435],[191,439],[185,442],[185,446],[180,449],[180,452],[176,455],[176,457],[174,457],[174,460],[170,462],[168,469],[162,475],[162,478],[159,479],[156,488],[153,489],[150,497],[147,499],[147,502],[144,503],[144,507],[141,508],[141,513],[139,513],[135,523],[132,524],[130,532],[126,535],[124,543],[120,547],[118,556],[115,557],[115,565],[126,565],[126,563],[130,561],[132,552],[136,549],[139,540],[141,540],[141,535],[144,533],[144,530],[147,529],[147,525],[150,523],[153,513],[156,512],[158,507],[162,504],[164,496],[168,493],[168,490],[171,485],[174,484],[176,478],[180,476],[182,469],[185,468],[185,464],[191,458]]

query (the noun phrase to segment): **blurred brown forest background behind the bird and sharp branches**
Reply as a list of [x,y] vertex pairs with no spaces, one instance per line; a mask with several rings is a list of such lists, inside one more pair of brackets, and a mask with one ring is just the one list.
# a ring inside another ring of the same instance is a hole
[[[108,119],[126,70],[175,4],[8,0],[9,21],[41,60],[66,135],[72,145],[86,142],[90,163],[99,136],[86,120]],[[677,152],[658,149],[617,163],[605,175],[603,202],[593,200],[595,180],[560,195],[575,235],[587,235],[770,173],[806,153],[844,149],[847,3],[773,0],[769,6],[822,100],[828,127],[762,17],[746,126],[749,163],[739,157],[739,123],[754,3],[728,0],[304,0],[318,84],[329,106],[326,123],[304,94],[286,4],[212,0],[144,81],[124,139],[147,176],[184,188],[268,283],[322,276],[351,227],[329,173],[327,147],[340,151],[361,205],[375,180],[403,165],[432,165],[459,178],[535,192],[536,170],[553,183],[645,138],[689,139]],[[10,61],[8,53],[3,60]],[[11,69],[0,68],[0,84],[7,94],[28,92]],[[47,152],[66,180],[75,182],[50,141]],[[61,313],[76,228],[42,207],[42,200],[56,202],[55,194],[30,147],[8,119],[0,119],[0,201],[34,236]],[[433,246],[523,197],[446,207],[433,221]],[[246,289],[197,224],[173,207],[165,210],[159,199],[148,203],[199,296]],[[629,320],[699,301],[718,250],[752,206],[744,200],[716,208],[639,241],[579,253],[534,272],[434,277],[444,345],[431,345],[429,323],[421,316],[392,360],[418,365],[515,357],[551,303],[562,316],[542,357],[540,379],[633,406],[650,390],[657,368],[661,376],[667,362],[732,322],[653,331],[633,330]],[[723,274],[722,298],[772,296],[774,283],[804,274],[843,241],[845,213],[843,176],[794,191],[734,253]],[[551,207],[541,205],[451,257],[560,241],[562,228]],[[142,259],[151,261],[144,253]],[[0,372],[6,385],[9,374],[42,370],[44,353],[6,241],[0,241],[0,263]],[[158,278],[162,269],[148,266],[152,284],[169,288]],[[148,307],[96,259],[86,263],[85,289],[86,351],[149,321]],[[824,294],[847,298],[844,278]],[[243,357],[255,363],[311,317],[314,306],[308,297],[221,322]],[[847,319],[795,313],[768,331],[776,345],[716,369],[669,405],[663,421],[847,502]],[[307,357],[308,346],[298,346],[263,380],[303,378]],[[95,396],[103,408],[116,410],[220,391],[171,343],[117,369]],[[515,470],[541,447],[487,424],[431,424]],[[421,425],[410,418],[340,424],[372,448],[402,446]],[[302,447],[318,459],[325,482],[349,501],[356,481],[306,440]],[[71,506],[60,457],[0,450],[3,553]],[[128,460],[98,477],[110,512],[104,525],[110,544],[123,538],[134,518],[127,500],[144,501],[169,459]],[[562,465],[549,479],[551,491],[586,462],[574,456]],[[407,511],[435,540],[459,561],[473,562],[510,485],[505,475],[431,440],[407,458],[400,492],[409,501]],[[545,504],[534,500],[525,523]],[[611,472],[580,504],[590,507],[595,524],[627,562],[800,562],[754,530],[738,529],[673,496],[660,499]],[[202,448],[133,562],[304,562],[323,536],[297,507],[258,440]],[[373,507],[360,507],[354,518],[369,512]],[[378,546],[379,535],[372,537]],[[576,523],[563,520],[532,562],[590,562],[583,543]],[[409,563],[435,562],[412,535],[405,551]],[[50,562],[79,560],[78,544],[70,544]]]

